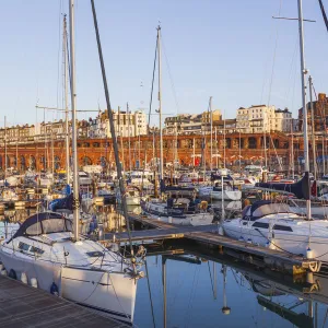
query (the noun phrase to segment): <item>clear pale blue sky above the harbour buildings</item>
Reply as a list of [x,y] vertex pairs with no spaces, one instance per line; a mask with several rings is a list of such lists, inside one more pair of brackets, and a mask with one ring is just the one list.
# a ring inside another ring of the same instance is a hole
[[[89,0],[75,2],[78,107],[97,109],[99,102],[105,108],[91,4]],[[328,33],[318,1],[303,2],[304,17],[317,20],[305,23],[306,67],[316,91],[328,93]],[[160,20],[166,55],[164,114],[200,113],[213,96],[213,107],[224,110],[227,118],[235,117],[239,106],[259,103],[289,107],[296,116],[301,106],[297,22],[271,19],[280,4],[281,15],[295,17],[296,0],[95,3],[114,108],[127,102],[131,109],[149,107]],[[62,104],[61,13],[68,13],[68,0],[0,0],[0,126],[4,115],[10,124],[40,121],[37,101],[46,106]],[[328,11],[328,1],[324,4]],[[48,113],[47,120],[52,118],[60,114]]]

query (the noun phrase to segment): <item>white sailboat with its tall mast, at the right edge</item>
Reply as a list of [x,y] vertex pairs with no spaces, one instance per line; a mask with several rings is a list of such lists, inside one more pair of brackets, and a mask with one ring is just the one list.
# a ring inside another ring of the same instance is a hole
[[305,74],[307,70],[304,65],[302,0],[297,1],[305,159],[305,174],[302,184],[304,183],[306,219],[293,213],[290,207],[284,203],[262,200],[245,208],[239,220],[226,220],[222,225],[224,233],[230,237],[328,262],[328,220],[313,220],[311,211],[307,109],[305,102]]

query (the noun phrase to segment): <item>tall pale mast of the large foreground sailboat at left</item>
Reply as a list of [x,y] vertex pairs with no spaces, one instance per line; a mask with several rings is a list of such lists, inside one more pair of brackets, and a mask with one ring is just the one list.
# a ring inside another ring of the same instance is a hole
[[73,153],[73,233],[79,241],[79,175],[77,136],[77,94],[75,94],[75,49],[74,49],[74,0],[70,0],[70,51],[71,51],[71,106],[72,106],[72,153]]

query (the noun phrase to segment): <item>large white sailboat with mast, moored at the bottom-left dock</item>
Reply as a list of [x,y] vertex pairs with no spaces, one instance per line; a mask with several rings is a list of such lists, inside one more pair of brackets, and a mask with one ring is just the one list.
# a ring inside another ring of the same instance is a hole
[[0,258],[10,277],[25,274],[45,291],[130,324],[139,272],[118,251],[79,235],[74,0],[70,37],[74,218],[54,212],[30,216],[0,244]]

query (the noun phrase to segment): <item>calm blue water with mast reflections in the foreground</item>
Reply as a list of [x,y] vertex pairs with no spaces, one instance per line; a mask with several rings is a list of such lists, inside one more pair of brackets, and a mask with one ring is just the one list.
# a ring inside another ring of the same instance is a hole
[[176,246],[149,248],[144,271],[138,327],[328,327],[325,276],[293,278]]

